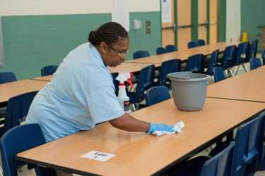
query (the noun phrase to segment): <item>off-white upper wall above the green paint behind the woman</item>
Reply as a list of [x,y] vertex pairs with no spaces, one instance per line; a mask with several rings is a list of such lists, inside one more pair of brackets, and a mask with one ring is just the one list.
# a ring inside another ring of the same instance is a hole
[[[130,11],[159,11],[159,0],[130,0]],[[0,0],[0,16],[111,13],[113,0]]]

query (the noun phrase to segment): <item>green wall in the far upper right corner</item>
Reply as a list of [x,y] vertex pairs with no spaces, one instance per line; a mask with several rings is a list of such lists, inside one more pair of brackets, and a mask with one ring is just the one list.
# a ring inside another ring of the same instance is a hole
[[[247,32],[249,41],[256,38],[259,39],[259,46],[261,43],[261,30],[256,28],[258,25],[265,25],[264,18],[264,0],[242,0],[241,1],[241,31]],[[260,47],[259,47],[260,50]]]

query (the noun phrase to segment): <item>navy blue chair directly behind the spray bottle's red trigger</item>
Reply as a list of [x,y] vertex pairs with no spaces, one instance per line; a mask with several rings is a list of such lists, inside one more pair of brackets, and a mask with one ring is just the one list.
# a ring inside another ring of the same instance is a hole
[[134,105],[145,99],[145,91],[154,85],[154,65],[147,66],[140,70],[138,83],[135,92],[128,92],[130,103]]

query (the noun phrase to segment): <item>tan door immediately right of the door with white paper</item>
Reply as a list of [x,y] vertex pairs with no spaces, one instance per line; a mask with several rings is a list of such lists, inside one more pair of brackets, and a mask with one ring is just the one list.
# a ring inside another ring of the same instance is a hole
[[177,33],[179,50],[188,49],[191,41],[191,0],[177,1]]

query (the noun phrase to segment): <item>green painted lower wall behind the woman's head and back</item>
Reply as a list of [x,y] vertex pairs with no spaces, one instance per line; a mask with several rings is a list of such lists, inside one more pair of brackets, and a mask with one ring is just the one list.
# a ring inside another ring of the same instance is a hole
[[[154,49],[161,45],[160,13],[131,13],[133,19],[151,20],[152,33],[130,30],[130,53],[137,49]],[[159,20],[157,20],[159,19]],[[60,64],[67,53],[87,41],[91,30],[111,21],[111,13],[56,16],[3,16],[5,66],[0,71],[13,71],[18,79],[40,76],[40,69],[49,64]]]

